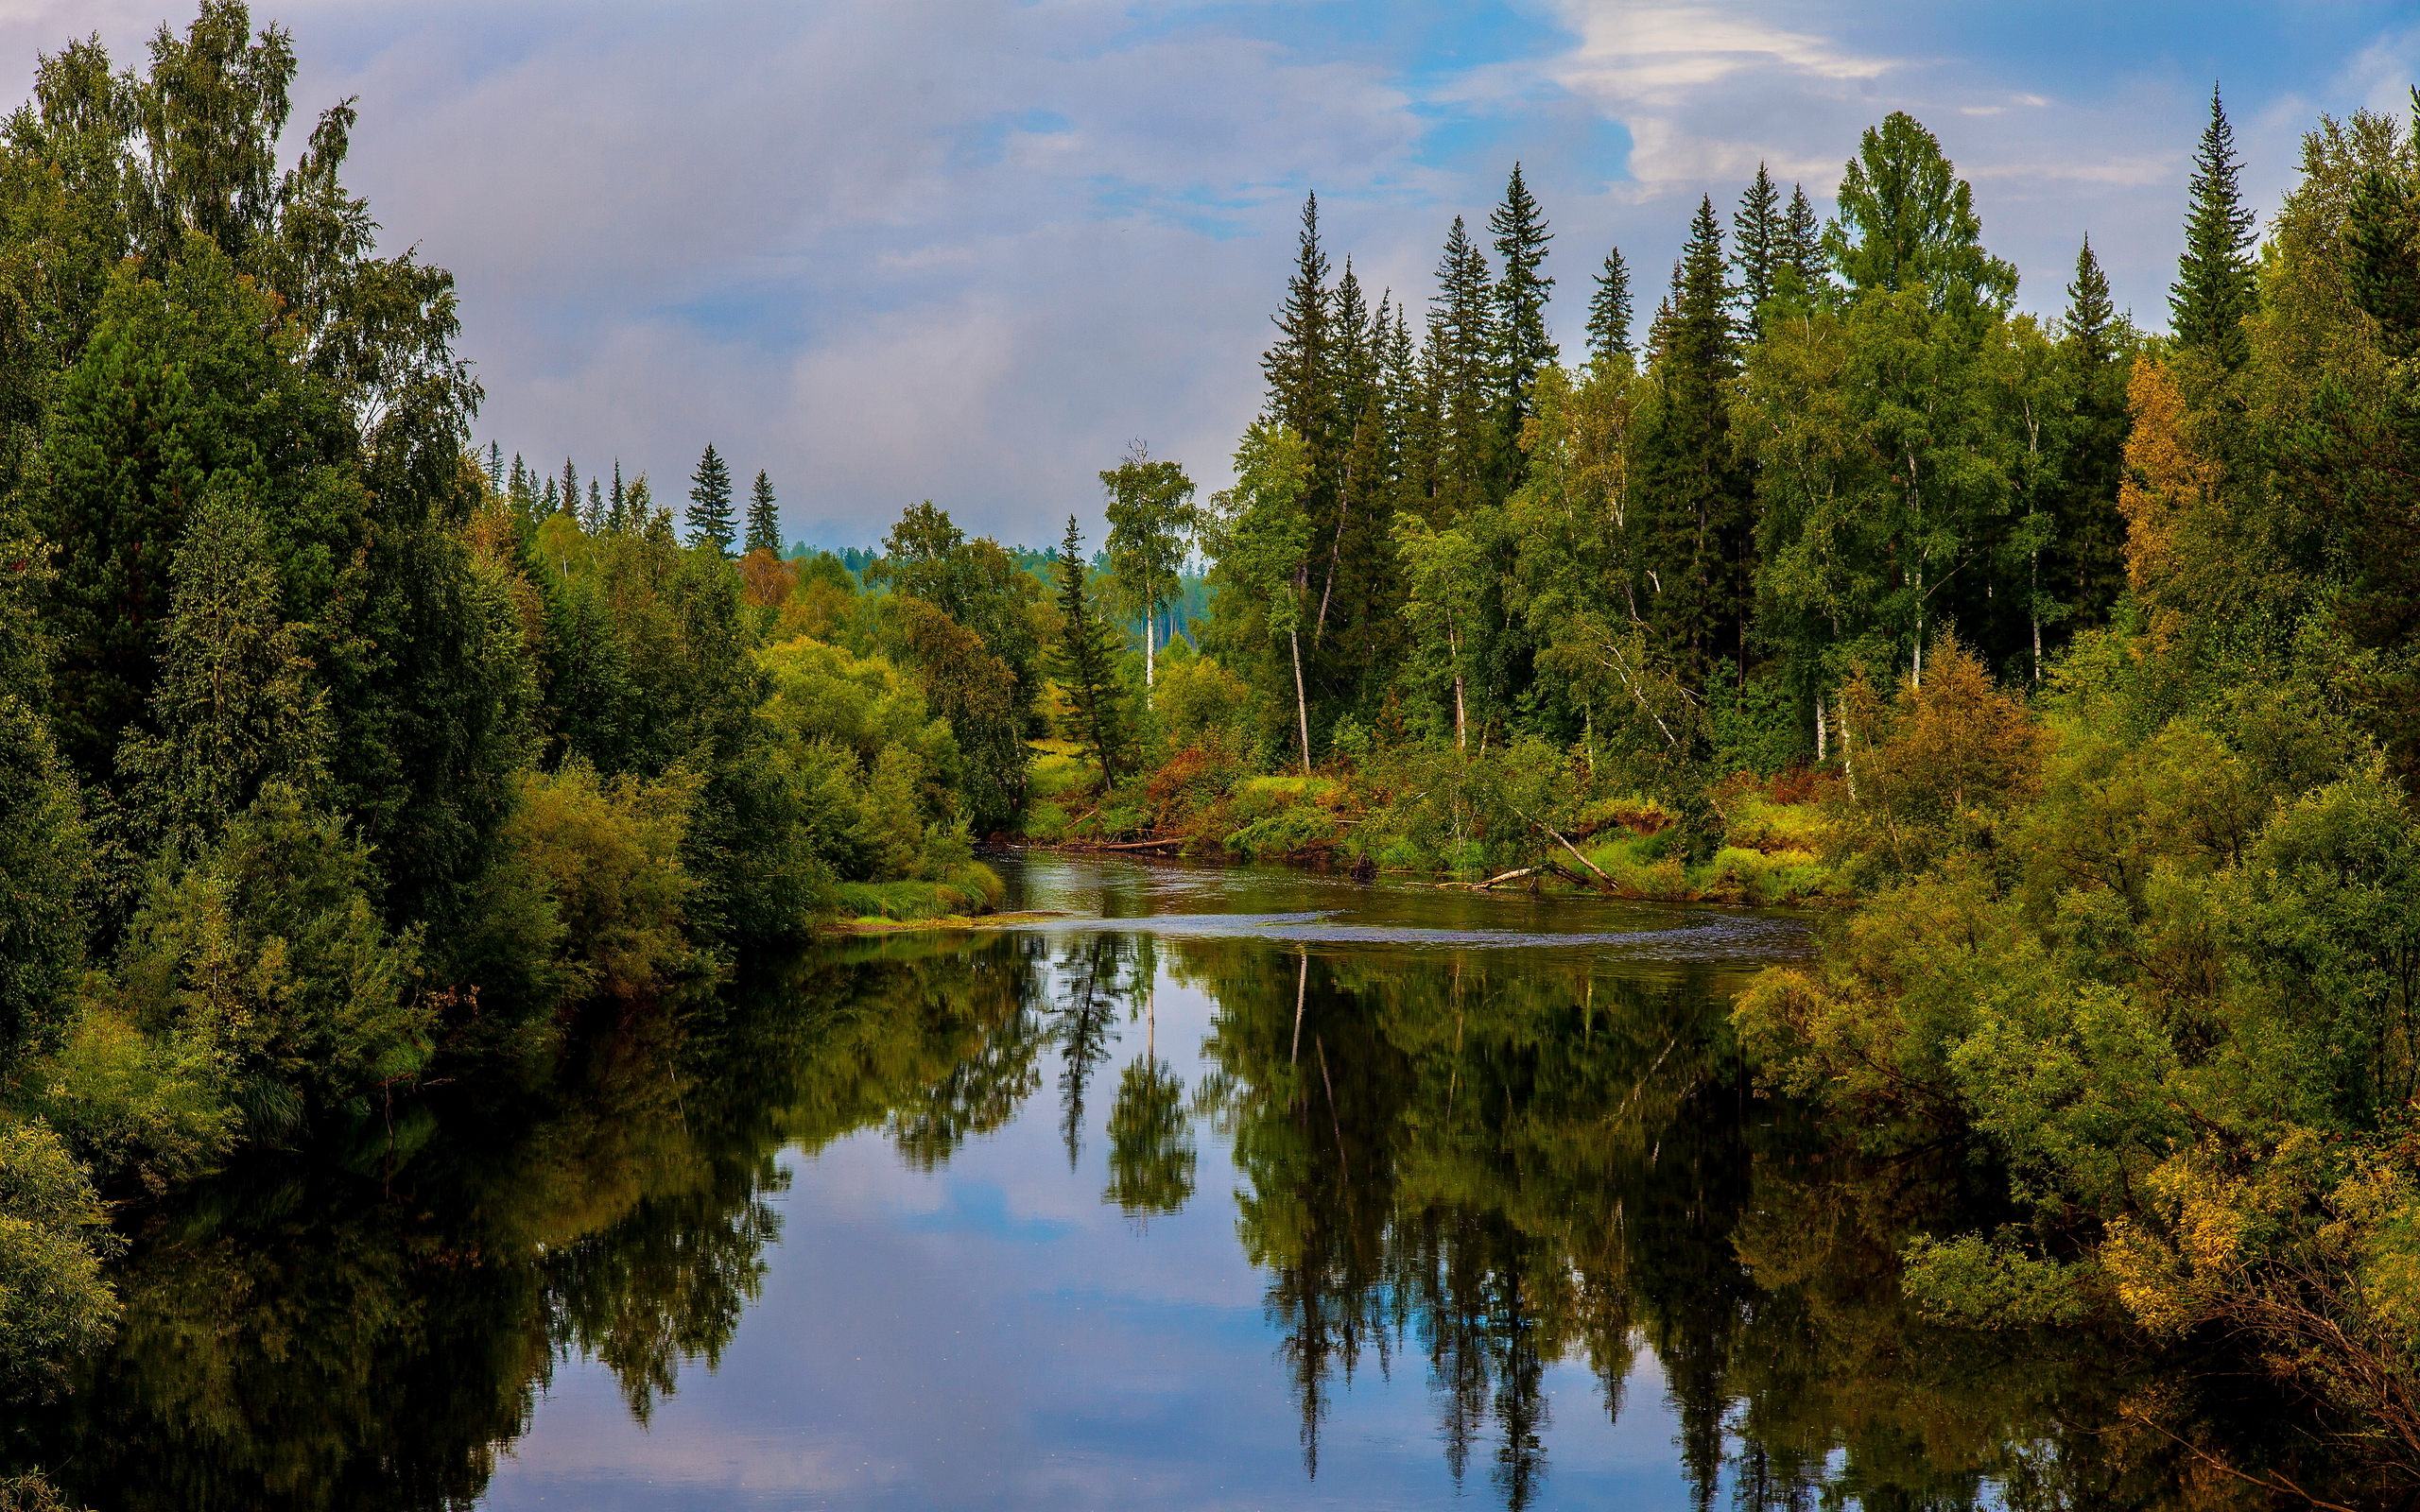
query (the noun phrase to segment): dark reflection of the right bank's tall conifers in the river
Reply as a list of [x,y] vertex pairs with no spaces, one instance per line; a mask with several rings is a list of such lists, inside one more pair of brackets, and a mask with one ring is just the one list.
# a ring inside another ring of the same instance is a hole
[[2166,1427],[2127,1427],[2176,1357],[1907,1311],[1895,1253],[1972,1212],[1967,1154],[1866,1166],[1810,1142],[1750,1096],[1721,982],[1312,958],[1295,1050],[1302,970],[1244,941],[1179,960],[1217,1002],[1203,1106],[1234,1139],[1314,1476],[1336,1384],[1416,1343],[1457,1481],[1486,1452],[1527,1507],[1546,1367],[1585,1360],[1619,1418],[1646,1343],[1696,1507],[1975,1507],[1989,1485],[2009,1507],[2236,1505],[2163,1435],[2243,1444],[2253,1422],[2178,1391]]

